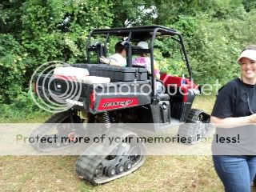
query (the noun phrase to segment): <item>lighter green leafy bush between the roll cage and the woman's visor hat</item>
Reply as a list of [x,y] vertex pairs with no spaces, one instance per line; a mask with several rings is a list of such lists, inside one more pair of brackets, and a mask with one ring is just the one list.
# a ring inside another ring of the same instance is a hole
[[198,16],[193,35],[186,39],[194,78],[198,82],[218,79],[224,83],[239,75],[236,63],[239,52],[256,42],[254,29],[247,27],[252,25],[255,17],[254,12],[243,19],[218,20],[209,15]]

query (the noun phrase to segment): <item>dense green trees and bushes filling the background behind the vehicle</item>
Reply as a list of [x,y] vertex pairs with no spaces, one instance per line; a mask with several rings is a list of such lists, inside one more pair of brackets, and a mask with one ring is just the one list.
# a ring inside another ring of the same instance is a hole
[[[174,28],[183,35],[194,81],[226,82],[238,75],[235,61],[240,50],[256,43],[255,6],[251,0],[3,0],[0,103],[35,110],[32,103],[22,102],[31,74],[51,60],[85,62],[86,37],[95,28],[151,24]],[[111,50],[115,41],[109,44]],[[154,59],[162,71],[181,75],[186,66],[172,43],[158,39]]]

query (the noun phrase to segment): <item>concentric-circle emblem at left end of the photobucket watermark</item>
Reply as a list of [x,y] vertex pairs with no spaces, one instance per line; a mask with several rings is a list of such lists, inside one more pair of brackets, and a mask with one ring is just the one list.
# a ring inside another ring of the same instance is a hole
[[[52,61],[38,66],[30,78],[30,96],[34,103],[50,113],[69,110],[82,93],[82,83],[73,78],[54,75],[58,67],[72,67],[66,62]],[[62,82],[58,81],[61,80]]]

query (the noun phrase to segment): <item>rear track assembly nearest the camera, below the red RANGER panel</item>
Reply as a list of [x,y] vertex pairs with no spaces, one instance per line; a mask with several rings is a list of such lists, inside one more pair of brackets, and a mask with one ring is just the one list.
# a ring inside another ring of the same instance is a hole
[[[123,138],[122,142],[114,142],[111,145],[94,143],[78,158],[76,164],[79,177],[94,185],[130,174],[142,166],[146,159],[145,146],[136,142],[137,135],[133,132],[110,129],[104,134],[107,138]],[[132,142],[127,138],[132,138]]]

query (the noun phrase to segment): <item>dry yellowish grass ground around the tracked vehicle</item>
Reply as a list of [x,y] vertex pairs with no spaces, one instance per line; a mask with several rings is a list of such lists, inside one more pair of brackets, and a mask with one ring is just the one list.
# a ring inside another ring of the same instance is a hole
[[[214,97],[198,97],[194,108],[210,113]],[[43,122],[47,117],[25,119]],[[0,191],[222,191],[208,156],[150,156],[124,178],[102,186],[80,180],[74,170],[77,156],[0,157]]]

